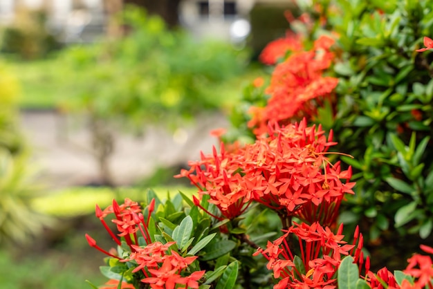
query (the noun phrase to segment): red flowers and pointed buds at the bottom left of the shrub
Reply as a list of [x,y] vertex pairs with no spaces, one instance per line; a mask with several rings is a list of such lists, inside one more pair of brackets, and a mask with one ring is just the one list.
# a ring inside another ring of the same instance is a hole
[[[187,275],[188,265],[195,259],[193,257],[182,257],[177,252],[170,250],[170,246],[175,242],[160,243],[152,242],[149,234],[149,221],[152,212],[154,211],[155,200],[153,199],[147,207],[147,219],[142,214],[142,208],[138,203],[125,199],[125,203],[119,205],[113,200],[113,205],[110,205],[102,211],[96,205],[96,216],[100,219],[102,225],[111,236],[111,238],[121,245],[121,239],[127,243],[131,249],[131,254],[126,259],[117,256],[116,250],[108,252],[100,248],[96,241],[86,234],[86,239],[91,247],[107,254],[110,257],[119,259],[120,262],[135,262],[136,268],[132,272],[142,271],[145,279],[143,283],[149,283],[151,288],[155,289],[174,289],[174,288],[199,288],[199,279],[203,277],[205,271],[196,271]],[[111,221],[116,224],[118,234],[115,234],[104,221],[104,218],[114,214],[115,218]],[[146,245],[142,246],[139,243],[138,232],[144,239]],[[124,287],[122,288],[129,288]]]

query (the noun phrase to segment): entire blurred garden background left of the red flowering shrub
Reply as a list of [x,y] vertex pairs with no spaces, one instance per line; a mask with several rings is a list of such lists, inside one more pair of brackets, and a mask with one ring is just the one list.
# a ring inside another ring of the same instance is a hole
[[290,3],[1,0],[1,287],[103,283],[95,203],[192,192],[172,176],[266,73]]

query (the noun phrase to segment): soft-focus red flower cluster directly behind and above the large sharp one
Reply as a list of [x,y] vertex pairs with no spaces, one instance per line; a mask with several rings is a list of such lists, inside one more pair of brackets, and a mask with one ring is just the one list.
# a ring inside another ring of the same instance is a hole
[[334,58],[330,48],[334,40],[322,36],[309,51],[293,53],[286,61],[278,64],[266,93],[270,98],[265,107],[252,107],[249,127],[255,127],[256,135],[266,131],[268,122],[286,124],[291,119],[313,118],[317,107],[331,99],[338,84],[335,77],[323,77]]

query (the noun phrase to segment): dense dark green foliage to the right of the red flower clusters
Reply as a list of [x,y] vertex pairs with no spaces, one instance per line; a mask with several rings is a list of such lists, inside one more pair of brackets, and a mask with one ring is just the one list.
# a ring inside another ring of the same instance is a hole
[[[311,102],[319,109],[310,122],[333,129],[338,151],[353,156],[342,158],[357,185],[341,221],[359,224],[370,248],[386,244],[381,258],[389,261],[408,243],[432,239],[433,54],[416,49],[433,35],[433,1],[336,0],[300,7],[311,22],[296,19],[291,27],[304,46],[319,35],[338,35],[336,58],[326,71],[338,77],[338,86],[329,102]],[[251,104],[266,105],[267,93],[266,86],[246,88],[232,115],[234,136],[252,136],[244,120]]]

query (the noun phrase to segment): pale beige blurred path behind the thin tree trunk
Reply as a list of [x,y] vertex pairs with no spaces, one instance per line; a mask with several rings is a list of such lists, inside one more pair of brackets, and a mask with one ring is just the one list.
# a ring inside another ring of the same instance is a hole
[[[23,111],[20,120],[32,148],[32,163],[44,184],[57,189],[98,183],[89,130],[82,120],[56,111]],[[196,160],[200,151],[208,153],[216,145],[210,130],[227,126],[223,115],[208,114],[174,132],[154,125],[147,125],[140,137],[116,132],[111,158],[116,184],[131,184],[157,167]]]

